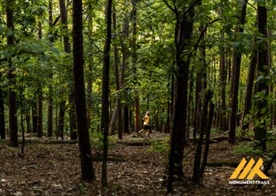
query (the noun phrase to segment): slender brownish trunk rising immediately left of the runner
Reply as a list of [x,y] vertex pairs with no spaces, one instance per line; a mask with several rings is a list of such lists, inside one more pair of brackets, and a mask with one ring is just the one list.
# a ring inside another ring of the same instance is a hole
[[134,84],[134,104],[135,104],[135,132],[140,130],[140,104],[139,92],[137,90],[137,0],[132,0],[132,41],[131,41],[131,56],[132,56],[132,74]]

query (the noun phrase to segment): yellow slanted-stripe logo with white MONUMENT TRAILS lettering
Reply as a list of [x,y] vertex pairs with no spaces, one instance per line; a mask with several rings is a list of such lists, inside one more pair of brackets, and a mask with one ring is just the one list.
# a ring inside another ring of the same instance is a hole
[[[230,176],[231,181],[229,184],[269,184],[269,180],[266,180],[268,177],[261,170],[263,163],[264,161],[261,158],[259,158],[256,164],[253,158],[248,163],[243,158]],[[258,175],[262,180],[252,180],[255,175]]]

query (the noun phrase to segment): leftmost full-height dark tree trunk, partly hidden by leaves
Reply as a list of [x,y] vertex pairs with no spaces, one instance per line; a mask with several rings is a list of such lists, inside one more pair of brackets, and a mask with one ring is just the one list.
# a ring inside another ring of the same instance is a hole
[[[14,0],[6,0],[6,17],[7,17],[7,27],[14,30],[13,22],[13,6]],[[8,46],[14,44],[14,35],[8,35],[7,37]],[[18,144],[18,126],[17,126],[17,93],[14,88],[17,86],[16,75],[14,73],[14,66],[12,65],[12,60],[8,59],[8,79],[9,79],[9,128],[10,128],[10,146],[17,147]]]

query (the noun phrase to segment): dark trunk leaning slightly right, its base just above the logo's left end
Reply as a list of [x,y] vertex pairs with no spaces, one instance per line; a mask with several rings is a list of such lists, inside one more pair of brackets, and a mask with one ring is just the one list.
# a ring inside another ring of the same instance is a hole
[[[244,1],[244,5],[242,6],[241,15],[239,17],[239,23],[237,29],[235,30],[236,37],[238,33],[243,33],[244,28],[242,26],[246,22],[246,6],[247,1]],[[230,124],[229,124],[229,137],[228,142],[233,144],[235,141],[236,134],[236,126],[237,126],[237,106],[238,106],[238,94],[239,94],[239,74],[242,62],[242,51],[240,48],[233,49],[233,65],[232,65],[232,79],[231,79],[231,112],[230,112]]]

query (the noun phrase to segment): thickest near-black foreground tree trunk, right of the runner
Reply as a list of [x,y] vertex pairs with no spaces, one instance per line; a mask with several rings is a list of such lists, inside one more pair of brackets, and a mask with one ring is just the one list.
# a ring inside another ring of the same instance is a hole
[[[169,176],[167,187],[169,193],[172,191],[174,175],[179,177],[184,176],[182,167],[186,134],[186,115],[188,101],[187,86],[191,56],[191,54],[185,54],[184,51],[191,51],[190,40],[193,35],[193,19],[195,8],[192,6],[188,9],[188,11],[184,10],[181,10],[182,17],[177,18],[177,23],[175,25],[177,72],[175,74],[175,94],[172,115],[172,130],[170,137]],[[179,14],[178,11],[177,13]],[[184,56],[187,58],[184,59]]]

